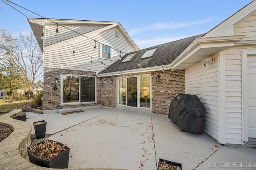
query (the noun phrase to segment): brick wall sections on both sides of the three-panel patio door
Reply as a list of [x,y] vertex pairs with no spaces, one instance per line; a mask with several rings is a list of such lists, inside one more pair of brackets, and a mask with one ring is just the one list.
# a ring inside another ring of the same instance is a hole
[[[178,74],[177,74],[178,73]],[[160,74],[160,82],[156,77]],[[152,113],[168,115],[170,104],[178,94],[185,93],[185,71],[152,72]],[[97,78],[97,102],[102,106],[116,107],[116,77]]]

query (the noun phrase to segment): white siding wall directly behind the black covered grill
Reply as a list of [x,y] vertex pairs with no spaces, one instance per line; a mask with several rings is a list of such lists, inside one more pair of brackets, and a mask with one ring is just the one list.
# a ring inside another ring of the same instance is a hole
[[[210,56],[209,56],[210,57]],[[186,94],[198,96],[206,107],[204,131],[218,140],[218,65],[194,64],[186,69]]]

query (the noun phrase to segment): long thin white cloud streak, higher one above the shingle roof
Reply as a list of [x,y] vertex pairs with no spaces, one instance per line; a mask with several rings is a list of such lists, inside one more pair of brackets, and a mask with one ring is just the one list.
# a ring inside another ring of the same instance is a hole
[[163,29],[177,29],[181,27],[188,27],[191,25],[198,25],[202,23],[209,23],[214,21],[214,18],[204,18],[203,20],[198,20],[194,22],[181,22],[181,23],[154,23],[152,25],[148,25],[148,27],[141,27],[141,28],[134,28],[134,29],[129,29],[127,32],[129,35],[134,35],[137,33],[142,33],[144,31],[149,31],[149,30],[163,30]]

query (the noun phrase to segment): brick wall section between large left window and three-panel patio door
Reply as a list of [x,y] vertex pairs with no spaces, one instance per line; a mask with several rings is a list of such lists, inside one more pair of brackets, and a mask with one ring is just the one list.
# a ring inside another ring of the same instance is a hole
[[[110,79],[113,84],[110,84]],[[97,102],[106,107],[116,107],[116,77],[97,78]]]

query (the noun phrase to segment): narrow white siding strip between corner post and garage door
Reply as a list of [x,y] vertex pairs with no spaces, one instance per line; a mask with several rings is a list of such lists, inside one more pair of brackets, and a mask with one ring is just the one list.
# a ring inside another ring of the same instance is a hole
[[231,47],[225,51],[226,143],[243,143],[241,51],[255,48],[255,46],[240,46]]

